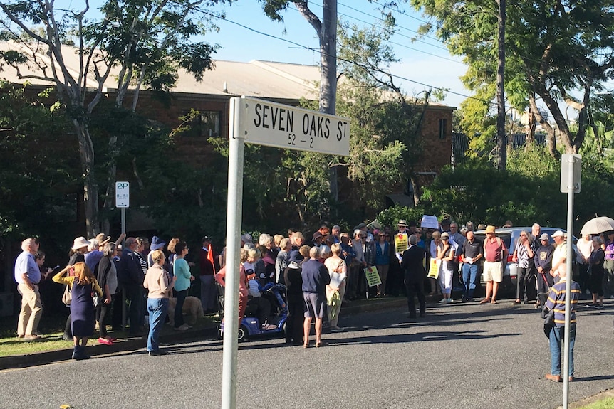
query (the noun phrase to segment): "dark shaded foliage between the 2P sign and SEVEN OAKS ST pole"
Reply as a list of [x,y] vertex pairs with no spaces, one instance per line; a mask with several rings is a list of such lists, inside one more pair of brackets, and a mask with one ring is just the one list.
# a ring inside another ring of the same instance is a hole
[[[130,181],[130,206],[155,220],[157,233],[199,243],[203,235],[224,245],[227,163],[214,157],[208,164],[189,162],[189,153],[178,143],[189,129],[192,111],[177,129],[168,129],[132,110],[101,103],[90,123],[98,152],[100,178],[108,164],[118,166],[119,180]],[[113,151],[109,135],[117,137]],[[118,211],[102,216],[119,223]],[[130,228],[130,226],[129,226]]]

